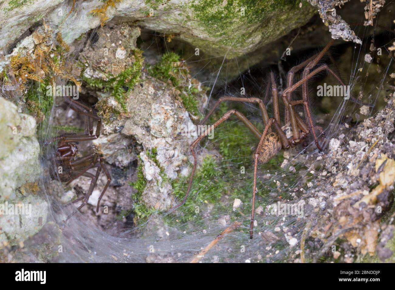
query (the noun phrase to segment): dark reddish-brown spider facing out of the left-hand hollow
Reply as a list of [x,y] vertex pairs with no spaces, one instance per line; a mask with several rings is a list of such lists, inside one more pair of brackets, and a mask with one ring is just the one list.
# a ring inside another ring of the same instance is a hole
[[[88,192],[76,200],[73,200],[66,206],[78,202],[83,199],[83,203],[77,210],[81,210],[85,204],[87,204],[89,196],[92,195],[93,189],[96,185],[100,172],[104,171],[107,177],[107,183],[105,184],[102,193],[100,194],[98,204],[96,207],[96,212],[99,212],[100,200],[102,199],[105,191],[107,190],[108,185],[111,182],[111,176],[107,170],[107,167],[104,165],[103,160],[98,156],[97,153],[92,153],[91,155],[85,157],[77,157],[78,148],[77,145],[73,144],[73,142],[81,142],[88,140],[95,140],[100,136],[100,128],[102,124],[102,119],[93,115],[92,109],[71,99],[69,97],[64,97],[66,102],[70,105],[70,108],[75,112],[86,116],[85,122],[85,134],[63,134],[53,138],[52,141],[59,140],[56,147],[56,156],[55,163],[56,168],[61,168],[62,170],[59,173],[60,181],[66,182],[66,185],[70,184],[71,181],[75,180],[79,176],[89,177],[92,180],[90,181],[90,187]],[[96,132],[93,134],[93,120],[97,121]],[[97,168],[96,174],[92,174],[87,172],[91,168]],[[75,211],[76,212],[76,211]],[[75,213],[74,212],[74,213]],[[72,213],[71,215],[73,215]],[[67,218],[69,219],[71,215]]]

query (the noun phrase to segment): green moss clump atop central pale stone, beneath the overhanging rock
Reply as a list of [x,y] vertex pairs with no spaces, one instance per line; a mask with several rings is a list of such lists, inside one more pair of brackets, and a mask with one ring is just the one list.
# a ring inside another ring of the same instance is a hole
[[[166,83],[170,81],[181,92],[180,97],[185,109],[193,116],[200,116],[198,82],[190,77],[188,68],[178,54],[165,53],[158,63],[148,68],[148,71],[156,79]],[[207,88],[203,88],[203,92],[206,91]]]

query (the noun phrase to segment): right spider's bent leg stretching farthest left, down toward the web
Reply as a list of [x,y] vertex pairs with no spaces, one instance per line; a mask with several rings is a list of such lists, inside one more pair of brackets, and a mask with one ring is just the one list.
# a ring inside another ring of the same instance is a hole
[[[236,98],[236,99],[243,99],[243,98]],[[260,99],[258,99],[258,100],[260,100]],[[203,139],[205,136],[207,136],[211,132],[211,130],[213,130],[218,125],[220,125],[222,122],[227,120],[232,114],[235,114],[237,116],[237,118],[239,118],[248,127],[248,129],[250,129],[252,131],[252,133],[255,134],[255,136],[257,138],[261,138],[261,134],[259,133],[258,129],[256,129],[256,127],[243,114],[241,114],[239,111],[237,111],[235,109],[232,109],[232,110],[229,110],[228,112],[226,112],[224,114],[224,116],[222,116],[220,119],[218,119],[217,122],[214,123],[213,127],[209,127],[209,129],[207,129],[207,131],[205,131],[202,135],[200,135],[198,138],[196,138],[194,140],[194,142],[192,142],[192,144],[190,145],[190,150],[191,150],[192,156],[194,157],[194,167],[192,168],[191,176],[189,178],[188,190],[186,191],[186,194],[185,194],[184,199],[182,200],[182,202],[180,202],[179,204],[177,204],[173,208],[167,210],[166,213],[174,211],[177,208],[179,208],[180,206],[182,206],[186,202],[186,199],[188,198],[188,195],[189,195],[189,192],[190,192],[191,186],[192,186],[192,181],[194,179],[196,166],[198,164],[198,159],[196,158],[196,154],[195,154],[195,146],[198,145],[199,142],[201,141],[201,139]]]

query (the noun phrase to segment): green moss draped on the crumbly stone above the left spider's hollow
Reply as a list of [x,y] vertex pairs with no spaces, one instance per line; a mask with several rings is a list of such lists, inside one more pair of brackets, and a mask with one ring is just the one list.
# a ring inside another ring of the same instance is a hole
[[111,73],[104,73],[107,80],[100,80],[94,78],[85,77],[84,73],[81,73],[81,77],[84,82],[91,88],[100,89],[104,92],[111,91],[111,95],[120,104],[122,111],[116,111],[105,104],[106,99],[103,98],[96,105],[100,109],[99,114],[104,116],[106,120],[109,119],[110,114],[118,115],[119,113],[126,112],[126,98],[128,92],[133,90],[135,84],[141,77],[141,69],[143,68],[143,52],[139,49],[134,50],[135,62],[132,66],[128,67],[116,76]]

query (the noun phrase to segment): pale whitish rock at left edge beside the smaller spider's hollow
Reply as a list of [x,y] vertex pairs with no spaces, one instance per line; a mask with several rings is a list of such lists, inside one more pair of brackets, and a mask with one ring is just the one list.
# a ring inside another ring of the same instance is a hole
[[47,202],[37,195],[41,167],[34,118],[0,97],[0,132],[1,248],[38,232],[47,219]]

